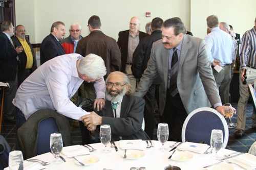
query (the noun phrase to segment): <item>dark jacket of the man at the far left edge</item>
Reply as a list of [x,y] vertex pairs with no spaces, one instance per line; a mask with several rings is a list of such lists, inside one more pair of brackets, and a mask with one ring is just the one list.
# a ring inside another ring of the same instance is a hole
[[14,81],[17,74],[17,52],[5,33],[0,35],[0,81]]

